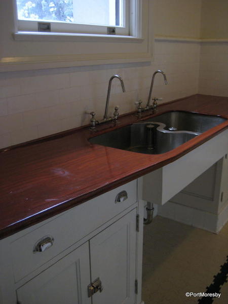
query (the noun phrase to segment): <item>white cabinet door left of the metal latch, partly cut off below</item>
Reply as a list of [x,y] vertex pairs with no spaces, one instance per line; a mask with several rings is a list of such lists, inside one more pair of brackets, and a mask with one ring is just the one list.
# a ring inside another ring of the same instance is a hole
[[85,243],[17,290],[21,304],[91,304],[89,243]]

